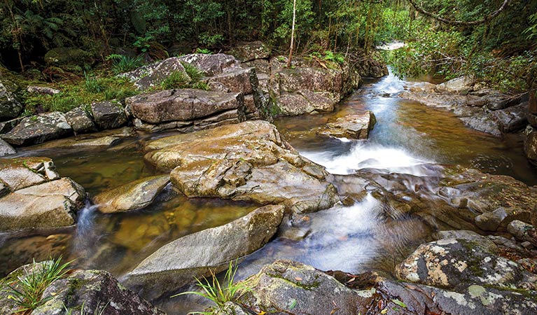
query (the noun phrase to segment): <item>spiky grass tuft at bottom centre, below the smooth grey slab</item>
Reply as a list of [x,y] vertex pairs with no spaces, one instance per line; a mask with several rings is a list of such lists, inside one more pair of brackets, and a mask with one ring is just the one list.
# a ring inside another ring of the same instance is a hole
[[235,267],[233,262],[230,262],[228,270],[225,272],[223,283],[220,283],[220,281],[216,278],[216,274],[211,271],[211,281],[205,277],[203,278],[204,281],[196,278],[196,286],[199,286],[202,289],[202,292],[188,291],[172,295],[172,297],[186,294],[200,295],[201,297],[205,297],[216,304],[216,306],[211,307],[210,311],[196,311],[189,314],[211,314],[213,311],[221,309],[225,303],[237,301],[242,294],[249,290],[249,288],[246,288],[243,283],[234,283],[236,272],[236,262]]

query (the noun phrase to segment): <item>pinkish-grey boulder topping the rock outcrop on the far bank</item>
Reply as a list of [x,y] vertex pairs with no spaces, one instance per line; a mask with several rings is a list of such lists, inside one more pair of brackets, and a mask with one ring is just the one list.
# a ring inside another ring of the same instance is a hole
[[190,54],[179,57],[179,60],[192,64],[207,76],[214,76],[225,69],[238,67],[240,64],[235,57],[225,54]]

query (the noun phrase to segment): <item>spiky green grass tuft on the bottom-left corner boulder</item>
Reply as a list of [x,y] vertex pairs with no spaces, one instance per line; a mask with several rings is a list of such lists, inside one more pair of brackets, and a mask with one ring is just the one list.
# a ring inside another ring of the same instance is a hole
[[[72,261],[62,264],[62,257],[49,262],[43,262],[31,272],[17,276],[17,279],[8,281],[6,292],[8,299],[13,300],[20,307],[20,311],[36,309],[47,299],[43,299],[43,292],[51,283],[62,279],[69,272]],[[34,260],[34,264],[35,264]]]

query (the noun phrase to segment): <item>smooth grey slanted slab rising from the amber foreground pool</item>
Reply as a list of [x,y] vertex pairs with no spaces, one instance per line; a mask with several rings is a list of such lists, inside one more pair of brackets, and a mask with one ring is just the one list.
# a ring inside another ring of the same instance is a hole
[[[162,246],[127,274],[125,285],[154,300],[194,277],[225,270],[229,262],[263,247],[276,233],[284,207],[266,206],[218,228]],[[195,253],[195,255],[193,255]]]

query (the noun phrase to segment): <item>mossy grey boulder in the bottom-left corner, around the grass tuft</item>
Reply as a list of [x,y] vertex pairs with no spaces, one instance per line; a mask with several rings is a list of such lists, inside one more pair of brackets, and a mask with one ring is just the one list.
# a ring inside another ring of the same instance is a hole
[[[24,279],[31,274],[43,272],[43,264],[38,262],[25,265],[4,281],[18,286],[18,277]],[[6,284],[4,284],[5,288]],[[3,288],[3,289],[4,289]],[[7,293],[2,293],[7,294]],[[165,315],[146,300],[122,286],[109,272],[102,270],[75,270],[62,279],[53,281],[43,293],[43,304],[32,311],[33,315],[53,314],[107,314],[107,315]],[[2,314],[11,314],[17,309],[12,300],[0,302]],[[82,314],[82,313],[80,313]]]

